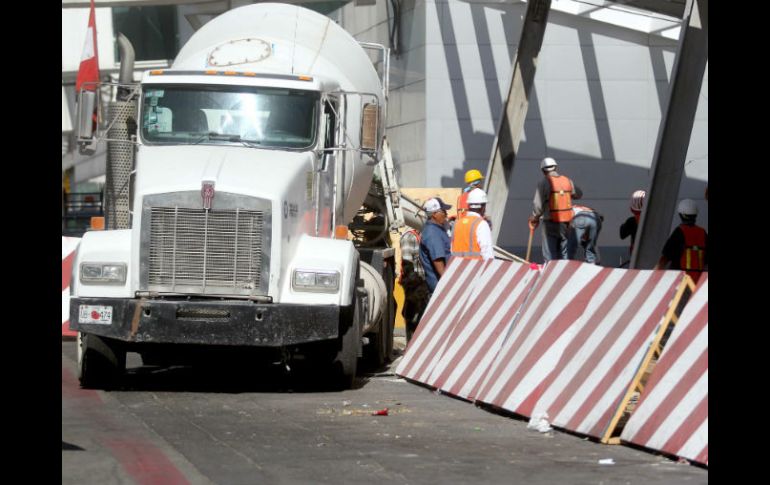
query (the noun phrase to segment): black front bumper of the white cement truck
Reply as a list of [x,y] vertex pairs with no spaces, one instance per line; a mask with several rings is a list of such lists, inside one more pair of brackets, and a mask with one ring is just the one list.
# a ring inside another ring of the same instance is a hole
[[[83,320],[81,308],[88,315]],[[333,305],[77,297],[70,300],[72,330],[126,342],[296,345],[337,337],[339,316],[340,308]]]

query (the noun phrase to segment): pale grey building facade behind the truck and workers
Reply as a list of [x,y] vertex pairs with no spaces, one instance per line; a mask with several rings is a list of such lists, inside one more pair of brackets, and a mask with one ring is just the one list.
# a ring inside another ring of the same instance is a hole
[[[113,2],[115,3],[115,2]],[[118,2],[119,3],[119,2]],[[251,1],[125,2],[96,9],[103,77],[116,79],[116,32],[137,50],[138,79],[169,66],[193,32],[214,16]],[[486,172],[510,85],[526,11],[523,1],[380,0],[291,2],[329,15],[360,41],[390,46],[387,134],[403,187],[460,187],[465,171]],[[98,2],[97,2],[98,6]],[[64,7],[64,4],[63,4]],[[88,8],[62,8],[62,173],[71,185],[103,180],[104,146],[77,153],[74,84]],[[527,216],[540,160],[561,172],[601,212],[602,264],[628,259],[619,225],[628,200],[647,189],[668,102],[681,20],[604,0],[553,0],[532,99],[497,243],[523,255]],[[693,87],[698,89],[698,87]],[[689,140],[679,198],[696,200],[708,229],[708,72]],[[86,185],[83,185],[86,184]],[[677,218],[674,218],[676,224]],[[533,259],[539,258],[535,236]]]

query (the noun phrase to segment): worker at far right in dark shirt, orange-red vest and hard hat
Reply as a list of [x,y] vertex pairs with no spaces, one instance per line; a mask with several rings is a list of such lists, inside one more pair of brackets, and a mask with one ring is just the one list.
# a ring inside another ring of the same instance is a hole
[[692,199],[683,199],[677,207],[682,223],[674,229],[666,244],[663,254],[655,269],[665,269],[671,263],[671,269],[687,271],[695,283],[708,267],[708,233],[695,225],[698,207]]

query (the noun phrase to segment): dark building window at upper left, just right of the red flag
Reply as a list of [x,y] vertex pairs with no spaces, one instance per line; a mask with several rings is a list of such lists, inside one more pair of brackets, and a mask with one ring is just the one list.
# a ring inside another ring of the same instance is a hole
[[[113,31],[128,37],[137,61],[173,59],[179,52],[176,6],[113,7]],[[115,42],[115,59],[120,52]]]

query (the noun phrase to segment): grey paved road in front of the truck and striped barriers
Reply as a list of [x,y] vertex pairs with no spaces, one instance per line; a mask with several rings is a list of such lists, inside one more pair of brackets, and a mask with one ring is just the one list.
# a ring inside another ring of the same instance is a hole
[[247,367],[142,367],[129,354],[120,390],[89,391],[62,342],[62,484],[708,483],[703,468],[530,431],[388,369],[325,392]]

